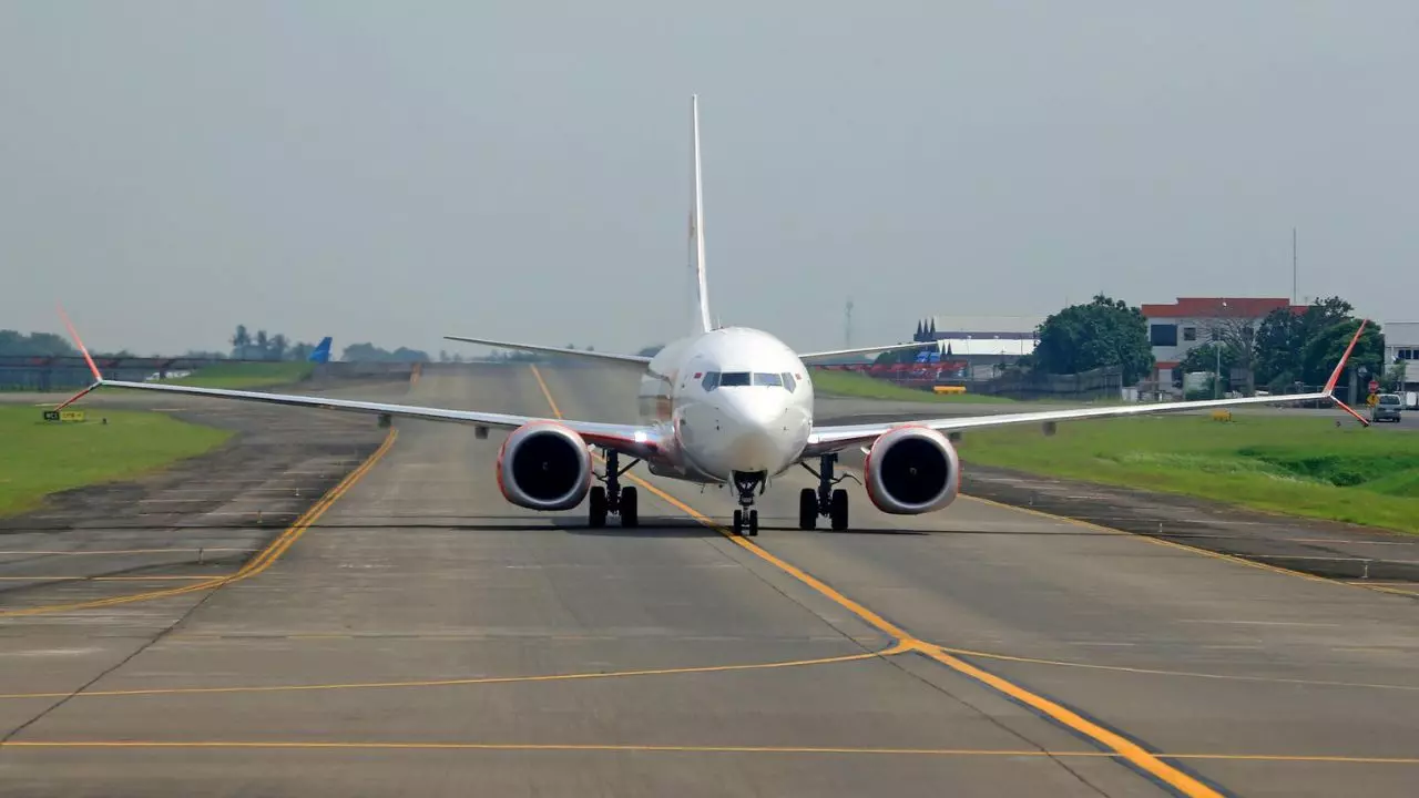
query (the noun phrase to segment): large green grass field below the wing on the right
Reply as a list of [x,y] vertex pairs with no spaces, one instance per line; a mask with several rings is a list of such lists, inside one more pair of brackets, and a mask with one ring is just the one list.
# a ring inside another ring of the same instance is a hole
[[1315,415],[1156,416],[969,432],[966,463],[1419,532],[1419,434]]

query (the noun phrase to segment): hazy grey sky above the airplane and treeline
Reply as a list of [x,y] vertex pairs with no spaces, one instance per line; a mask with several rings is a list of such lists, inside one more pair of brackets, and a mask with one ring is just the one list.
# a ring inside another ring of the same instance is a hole
[[1107,291],[1419,319],[1419,4],[0,3],[0,328],[800,348]]

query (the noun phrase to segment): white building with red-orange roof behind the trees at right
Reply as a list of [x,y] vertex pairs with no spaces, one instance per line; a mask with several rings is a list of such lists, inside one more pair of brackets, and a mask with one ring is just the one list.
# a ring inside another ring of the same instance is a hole
[[1305,311],[1305,305],[1270,297],[1178,297],[1168,305],[1142,305],[1139,310],[1148,319],[1148,342],[1156,361],[1154,379],[1158,385],[1172,385],[1172,369],[1195,346],[1212,342],[1227,328],[1242,327],[1254,334],[1261,319],[1281,308]]

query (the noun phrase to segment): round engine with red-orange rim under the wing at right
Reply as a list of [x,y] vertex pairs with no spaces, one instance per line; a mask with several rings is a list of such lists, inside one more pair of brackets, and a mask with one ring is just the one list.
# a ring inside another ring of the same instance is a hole
[[941,510],[961,490],[961,459],[946,436],[897,427],[880,436],[863,466],[867,497],[883,513],[915,515]]

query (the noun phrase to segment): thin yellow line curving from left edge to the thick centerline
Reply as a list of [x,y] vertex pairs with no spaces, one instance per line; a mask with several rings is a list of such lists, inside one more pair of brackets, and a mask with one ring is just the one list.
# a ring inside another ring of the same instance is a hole
[[[308,635],[309,638],[338,638],[338,635]],[[907,646],[891,646],[880,652],[866,652],[860,655],[827,656],[817,659],[796,659],[788,662],[758,662],[749,665],[705,665],[691,667],[658,667],[643,670],[612,670],[589,673],[553,673],[545,676],[482,676],[468,679],[430,679],[423,682],[348,682],[335,684],[271,684],[271,686],[240,686],[240,687],[152,687],[135,690],[85,690],[74,694],[74,699],[96,699],[116,696],[192,696],[207,693],[297,693],[309,690],[372,690],[389,687],[454,687],[467,684],[525,684],[536,682],[583,682],[593,679],[626,679],[630,676],[678,676],[685,673],[727,673],[734,670],[773,670],[785,667],[806,667],[812,665],[833,665],[840,662],[860,662],[864,659],[881,659],[910,650]],[[61,699],[71,693],[0,693],[0,700],[7,699]]]

